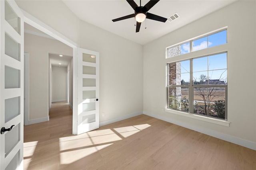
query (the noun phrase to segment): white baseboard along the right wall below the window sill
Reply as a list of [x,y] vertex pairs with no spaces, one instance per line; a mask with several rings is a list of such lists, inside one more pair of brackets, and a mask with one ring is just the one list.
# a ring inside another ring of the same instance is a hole
[[191,124],[188,124],[188,123],[176,121],[176,120],[164,117],[162,115],[157,115],[157,114],[149,113],[149,112],[146,112],[146,111],[143,111],[143,114],[154,117],[156,119],[160,119],[160,120],[163,120],[163,121],[173,123],[175,125],[186,127],[188,129],[198,131],[200,133],[204,133],[206,135],[210,135],[210,136],[216,137],[218,139],[222,139],[224,141],[228,141],[228,142],[231,142],[231,143],[234,143],[234,144],[237,144],[237,145],[241,145],[241,146],[246,147],[246,148],[256,150],[256,143],[253,143],[253,142],[250,142],[250,141],[246,141],[246,140],[243,140],[243,139],[232,137],[230,135],[226,135],[226,134],[219,133],[219,132],[216,132],[216,131],[211,131],[209,129],[205,129],[205,128],[202,128],[202,127],[197,127],[197,126],[194,126],[194,125],[191,125]]

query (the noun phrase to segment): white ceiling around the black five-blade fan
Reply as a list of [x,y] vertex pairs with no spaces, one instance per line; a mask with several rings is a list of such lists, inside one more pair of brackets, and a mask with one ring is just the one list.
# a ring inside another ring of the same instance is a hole
[[[190,22],[198,20],[236,0],[160,0],[148,12],[170,17],[178,13],[180,18],[165,23],[148,20],[142,22],[140,32],[136,33],[134,18],[113,22],[113,19],[133,14],[134,10],[126,0],[62,0],[80,19],[126,39],[144,45],[170,33]],[[139,0],[134,0],[140,6]],[[149,0],[142,0],[144,6]]]

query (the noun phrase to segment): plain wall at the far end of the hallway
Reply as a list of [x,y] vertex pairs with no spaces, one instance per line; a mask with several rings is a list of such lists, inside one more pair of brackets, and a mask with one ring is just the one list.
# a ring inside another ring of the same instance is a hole
[[67,67],[52,66],[52,102],[67,101]]

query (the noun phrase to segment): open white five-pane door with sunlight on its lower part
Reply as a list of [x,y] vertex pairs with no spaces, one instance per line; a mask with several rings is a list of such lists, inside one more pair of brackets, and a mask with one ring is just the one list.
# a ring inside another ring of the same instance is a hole
[[99,128],[99,53],[78,48],[77,134]]

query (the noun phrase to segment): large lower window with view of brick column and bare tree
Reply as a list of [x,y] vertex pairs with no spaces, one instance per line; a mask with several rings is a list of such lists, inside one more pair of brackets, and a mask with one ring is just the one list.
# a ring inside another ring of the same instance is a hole
[[227,120],[227,52],[168,63],[168,108]]

